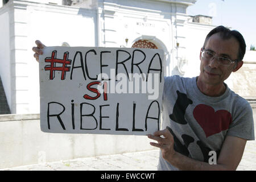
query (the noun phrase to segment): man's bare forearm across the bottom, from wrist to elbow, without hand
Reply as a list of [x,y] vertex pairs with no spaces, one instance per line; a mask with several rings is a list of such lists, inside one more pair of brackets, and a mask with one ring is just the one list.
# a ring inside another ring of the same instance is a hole
[[184,156],[178,152],[175,152],[172,159],[167,159],[167,162],[183,171],[230,170],[223,164],[209,164],[206,162],[201,162],[199,160],[188,158],[187,156]]

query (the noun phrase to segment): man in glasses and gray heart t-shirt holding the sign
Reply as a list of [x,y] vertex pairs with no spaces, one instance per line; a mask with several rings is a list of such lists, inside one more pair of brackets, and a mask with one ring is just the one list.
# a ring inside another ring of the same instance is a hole
[[[38,60],[44,45],[36,44],[32,50]],[[245,47],[239,32],[216,27],[201,49],[200,75],[165,78],[164,130],[148,135],[158,142],[150,144],[160,148],[159,170],[237,168],[246,140],[254,139],[253,114],[224,80],[242,67]]]

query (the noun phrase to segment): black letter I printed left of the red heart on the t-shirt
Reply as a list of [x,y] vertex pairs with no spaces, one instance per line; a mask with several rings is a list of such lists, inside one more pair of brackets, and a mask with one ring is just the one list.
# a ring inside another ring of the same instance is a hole
[[172,119],[172,121],[175,121],[181,125],[187,124],[187,121],[184,118],[184,114],[188,105],[192,103],[193,102],[187,97],[186,94],[180,93],[179,90],[177,90],[177,100],[174,105],[174,110],[172,111],[172,114],[169,115],[169,117]]

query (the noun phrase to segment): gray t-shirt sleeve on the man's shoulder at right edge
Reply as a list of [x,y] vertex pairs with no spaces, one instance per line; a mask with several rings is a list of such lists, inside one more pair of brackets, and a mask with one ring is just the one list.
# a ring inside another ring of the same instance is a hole
[[246,140],[255,140],[253,110],[249,102],[244,101],[243,104],[237,104],[238,112],[233,118],[232,124],[229,126],[227,135],[240,137]]

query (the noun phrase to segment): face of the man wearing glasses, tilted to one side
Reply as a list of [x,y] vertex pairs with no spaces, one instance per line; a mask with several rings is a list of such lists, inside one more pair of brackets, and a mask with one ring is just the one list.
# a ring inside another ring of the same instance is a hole
[[[239,43],[233,37],[223,40],[217,33],[210,36],[204,49],[216,56],[236,60],[238,59]],[[233,62],[228,67],[225,67],[224,65],[218,64],[217,57],[214,57],[212,60],[205,60],[201,58],[201,54],[200,60],[201,64],[199,79],[203,81],[204,84],[212,86],[223,84],[224,80],[226,80],[226,78],[228,78],[232,72],[237,71],[242,66]]]

